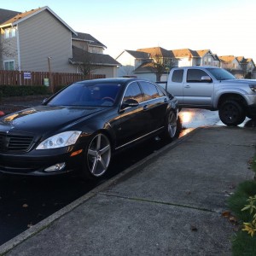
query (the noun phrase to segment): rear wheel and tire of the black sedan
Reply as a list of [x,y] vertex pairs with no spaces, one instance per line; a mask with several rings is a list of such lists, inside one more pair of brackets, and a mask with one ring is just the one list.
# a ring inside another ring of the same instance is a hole
[[180,132],[180,120],[177,119],[177,115],[174,111],[170,111],[166,117],[166,127],[162,134],[163,139],[172,141],[174,138],[178,137]]

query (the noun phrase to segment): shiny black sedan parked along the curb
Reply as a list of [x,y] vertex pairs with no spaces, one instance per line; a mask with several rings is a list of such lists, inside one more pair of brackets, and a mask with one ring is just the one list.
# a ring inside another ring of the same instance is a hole
[[95,79],[67,86],[42,105],[0,119],[0,172],[100,178],[113,152],[177,134],[177,100],[144,79]]

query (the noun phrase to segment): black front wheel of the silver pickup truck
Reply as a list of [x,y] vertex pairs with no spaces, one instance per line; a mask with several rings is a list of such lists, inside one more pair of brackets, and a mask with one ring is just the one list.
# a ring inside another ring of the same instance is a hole
[[224,102],[218,110],[219,119],[224,125],[236,126],[240,125],[246,118],[246,114],[242,106],[235,101]]

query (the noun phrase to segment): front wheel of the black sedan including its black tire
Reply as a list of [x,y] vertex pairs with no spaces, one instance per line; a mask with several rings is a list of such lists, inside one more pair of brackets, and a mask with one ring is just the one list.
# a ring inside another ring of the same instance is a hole
[[96,133],[84,150],[82,177],[100,180],[108,171],[111,160],[111,143],[102,132]]

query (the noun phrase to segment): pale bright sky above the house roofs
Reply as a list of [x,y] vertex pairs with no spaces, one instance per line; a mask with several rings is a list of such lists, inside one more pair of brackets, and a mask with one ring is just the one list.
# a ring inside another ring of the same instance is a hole
[[90,33],[116,58],[124,49],[211,49],[256,63],[255,0],[0,0],[24,12],[48,6],[77,32]]

